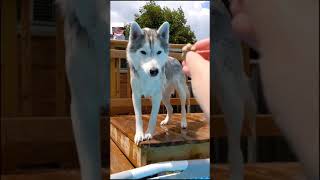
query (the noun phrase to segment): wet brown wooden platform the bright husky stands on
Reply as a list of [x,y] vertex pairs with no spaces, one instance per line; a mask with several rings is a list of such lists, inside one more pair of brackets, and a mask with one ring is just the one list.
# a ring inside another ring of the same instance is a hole
[[[210,149],[208,123],[203,116],[189,120],[190,116],[187,115],[188,128],[181,129],[180,114],[174,114],[171,122],[162,127],[159,124],[165,115],[158,115],[153,139],[138,146],[133,140],[134,115],[111,117],[111,138],[136,167],[168,160],[207,158]],[[149,115],[143,115],[142,119],[146,130]]]

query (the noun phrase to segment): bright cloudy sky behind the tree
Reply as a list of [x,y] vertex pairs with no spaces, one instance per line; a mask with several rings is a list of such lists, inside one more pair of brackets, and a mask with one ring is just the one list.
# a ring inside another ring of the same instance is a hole
[[[111,1],[110,18],[113,24],[128,24],[134,20],[134,14],[139,13],[139,8],[148,1]],[[195,33],[197,40],[210,35],[210,10],[209,1],[156,1],[161,7],[178,9],[180,6],[184,11],[187,25]]]

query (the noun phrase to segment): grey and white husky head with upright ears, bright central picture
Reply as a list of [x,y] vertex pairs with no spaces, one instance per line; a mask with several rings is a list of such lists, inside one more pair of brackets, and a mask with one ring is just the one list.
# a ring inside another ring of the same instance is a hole
[[158,30],[143,28],[133,22],[127,47],[128,60],[136,70],[142,70],[150,78],[159,77],[168,60],[169,23]]

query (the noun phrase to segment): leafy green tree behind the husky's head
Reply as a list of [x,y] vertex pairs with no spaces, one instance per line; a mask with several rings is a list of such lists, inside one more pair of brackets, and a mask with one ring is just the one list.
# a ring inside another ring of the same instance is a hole
[[[189,25],[186,25],[184,12],[181,7],[178,9],[161,8],[155,1],[150,1],[139,9],[135,14],[135,21],[143,27],[157,29],[164,21],[170,23],[170,43],[186,44],[195,43],[196,37]],[[127,25],[126,37],[129,36],[130,27]]]

